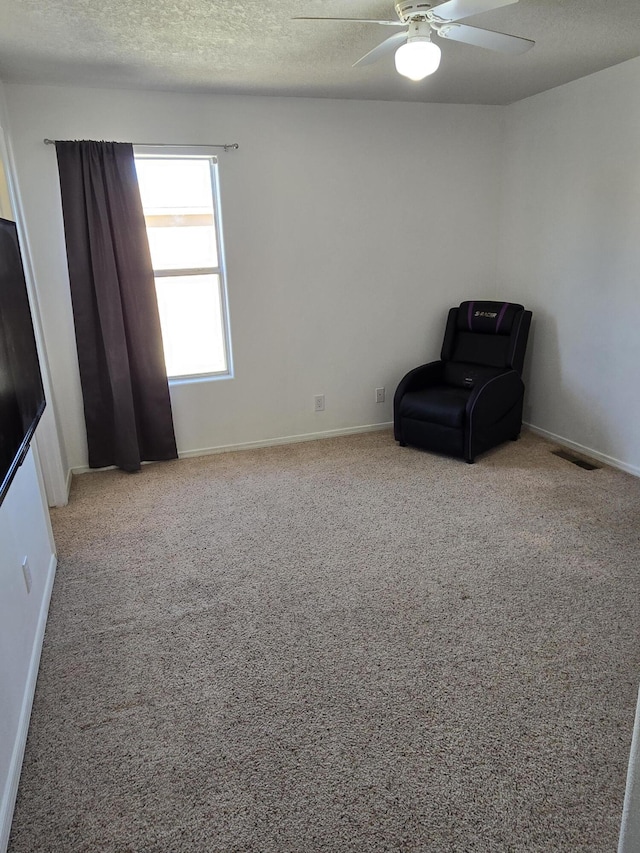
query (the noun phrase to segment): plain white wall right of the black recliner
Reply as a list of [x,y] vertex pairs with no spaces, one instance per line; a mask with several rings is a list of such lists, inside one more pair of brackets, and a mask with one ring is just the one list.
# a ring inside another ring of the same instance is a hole
[[640,474],[640,59],[506,110],[499,279],[534,311],[525,420]]

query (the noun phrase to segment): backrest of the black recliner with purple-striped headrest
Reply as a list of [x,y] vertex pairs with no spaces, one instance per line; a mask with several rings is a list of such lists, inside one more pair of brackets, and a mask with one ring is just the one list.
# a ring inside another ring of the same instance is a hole
[[522,373],[531,311],[514,302],[474,300],[452,308],[441,359]]

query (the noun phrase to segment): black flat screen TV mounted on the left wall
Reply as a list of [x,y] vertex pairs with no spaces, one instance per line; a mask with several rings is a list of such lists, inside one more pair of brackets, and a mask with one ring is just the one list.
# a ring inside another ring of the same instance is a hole
[[0,504],[45,407],[15,222],[0,218]]

